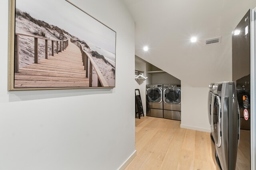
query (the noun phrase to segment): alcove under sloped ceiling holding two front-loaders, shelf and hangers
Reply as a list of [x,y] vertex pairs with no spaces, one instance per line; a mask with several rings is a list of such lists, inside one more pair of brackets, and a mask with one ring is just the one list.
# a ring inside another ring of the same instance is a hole
[[144,115],[181,121],[178,78],[135,56],[135,89],[137,95],[139,90]]

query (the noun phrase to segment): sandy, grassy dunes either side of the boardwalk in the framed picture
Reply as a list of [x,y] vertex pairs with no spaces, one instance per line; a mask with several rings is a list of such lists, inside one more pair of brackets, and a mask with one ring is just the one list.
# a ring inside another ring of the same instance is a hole
[[[18,12],[17,12],[18,11]],[[54,32],[56,35],[65,35],[72,39],[77,40],[82,45],[84,45],[89,53],[89,46],[87,45],[86,41],[80,40],[78,37],[70,35],[67,31],[60,29],[55,25],[50,25],[44,21],[36,20],[32,18],[28,13],[22,12],[16,9],[16,33],[24,33],[28,35],[35,35],[38,37],[44,37],[47,39],[59,40],[57,37],[54,36],[52,33]],[[48,41],[48,56],[52,55],[52,45],[50,41]],[[59,50],[60,52],[60,47]],[[104,51],[104,50],[102,50]],[[54,54],[56,54],[56,43],[54,43]],[[90,55],[95,54],[96,51],[90,51]],[[97,53],[97,52],[96,52]],[[107,52],[104,52],[108,54]],[[111,53],[109,53],[112,55]],[[114,55],[114,54],[113,54]],[[109,86],[115,86],[115,62],[113,59],[113,55],[110,57],[98,58],[93,57],[92,59],[95,61],[96,65],[98,66],[100,72],[104,76],[106,82]],[[81,56],[82,58],[82,56]],[[42,61],[45,59],[45,40],[38,39],[38,60]],[[34,38],[19,35],[19,68],[23,68],[30,64],[34,63]],[[93,86],[97,86],[97,79],[95,77],[95,71],[93,72]]]

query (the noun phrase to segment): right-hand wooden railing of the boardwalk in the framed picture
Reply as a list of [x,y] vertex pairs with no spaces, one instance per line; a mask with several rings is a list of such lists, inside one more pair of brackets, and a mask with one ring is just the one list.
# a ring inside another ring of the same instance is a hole
[[[76,46],[80,48],[80,51],[82,53],[84,70],[86,70],[86,78],[88,78],[89,76],[89,87],[92,87],[92,67],[94,67],[94,70],[98,77],[98,87],[108,87],[108,83],[106,82],[104,76],[100,72],[100,69],[96,65],[95,61],[92,59],[90,54],[87,51],[85,51],[84,45],[82,45],[80,42],[74,39],[70,39],[70,42],[74,43]],[[90,48],[89,48],[89,52],[90,52]],[[88,69],[88,65],[89,65],[89,69]]]

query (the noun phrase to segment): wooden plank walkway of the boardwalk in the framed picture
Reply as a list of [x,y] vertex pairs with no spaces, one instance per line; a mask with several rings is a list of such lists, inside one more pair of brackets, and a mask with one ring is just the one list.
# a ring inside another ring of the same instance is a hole
[[88,87],[89,79],[85,76],[81,51],[69,41],[64,51],[20,68],[15,73],[14,87]]

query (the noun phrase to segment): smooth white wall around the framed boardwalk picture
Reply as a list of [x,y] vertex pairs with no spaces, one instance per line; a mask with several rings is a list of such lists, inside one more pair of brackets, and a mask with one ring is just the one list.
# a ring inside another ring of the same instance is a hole
[[72,2],[117,32],[116,88],[8,92],[1,1],[0,170],[115,170],[135,151],[134,21],[119,0]]

